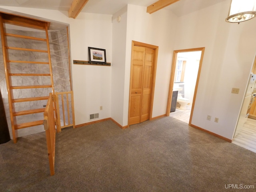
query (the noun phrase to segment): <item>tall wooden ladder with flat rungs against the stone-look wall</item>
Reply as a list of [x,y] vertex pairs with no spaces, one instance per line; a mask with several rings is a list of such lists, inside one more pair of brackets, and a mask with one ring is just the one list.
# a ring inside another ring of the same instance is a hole
[[[45,31],[46,33],[46,38],[36,38],[33,36],[23,36],[23,35],[18,35],[18,34],[11,34],[11,33],[6,33],[6,29],[4,27],[4,24],[11,24],[15,26],[22,26],[26,28],[33,28],[37,30],[42,30]],[[1,32],[1,39],[2,39],[2,52],[3,52],[3,59],[4,59],[4,67],[5,67],[5,76],[6,76],[6,86],[7,86],[7,92],[8,92],[8,102],[9,102],[9,109],[10,109],[10,120],[12,124],[12,137],[14,143],[17,142],[17,137],[16,137],[16,130],[22,129],[22,128],[28,128],[32,126],[38,126],[43,124],[43,115],[42,115],[42,120],[37,120],[37,121],[32,121],[32,122],[26,122],[26,123],[21,123],[17,124],[16,122],[16,116],[22,116],[22,115],[28,115],[28,114],[36,114],[36,113],[42,113],[44,112],[45,108],[37,108],[37,109],[32,109],[32,110],[24,110],[24,111],[16,111],[15,110],[15,103],[17,102],[31,102],[31,101],[40,101],[40,100],[47,100],[48,96],[35,96],[35,97],[30,97],[30,98],[14,98],[13,91],[17,89],[40,89],[40,88],[51,88],[52,94],[54,94],[54,85],[53,85],[53,77],[52,77],[52,65],[51,65],[51,59],[50,59],[50,45],[49,45],[49,40],[48,40],[48,27],[49,23],[40,21],[40,20],[34,20],[31,18],[26,18],[26,17],[20,17],[16,15],[11,15],[11,14],[5,14],[5,13],[0,13],[0,32]],[[21,47],[10,47],[8,46],[8,41],[7,37],[12,37],[12,38],[22,38],[26,39],[28,41],[40,41],[40,42],[45,42],[47,45],[47,50],[40,50],[40,49],[28,49],[28,48],[21,48]],[[10,54],[8,53],[9,50],[16,50],[17,52],[20,51],[20,54],[22,52],[41,52],[41,53],[46,53],[48,54],[48,62],[39,62],[39,61],[28,61],[24,60],[22,58],[19,58],[17,60],[9,60]],[[47,74],[39,74],[39,73],[12,73],[10,65],[12,63],[25,63],[25,64],[47,64],[49,65],[49,73]],[[22,85],[22,81],[20,81],[20,85],[13,86],[12,85],[12,76],[20,76],[21,78],[26,77],[26,76],[48,76],[50,78],[49,82],[51,84],[39,84],[39,85]],[[46,94],[49,94],[46,93]]]

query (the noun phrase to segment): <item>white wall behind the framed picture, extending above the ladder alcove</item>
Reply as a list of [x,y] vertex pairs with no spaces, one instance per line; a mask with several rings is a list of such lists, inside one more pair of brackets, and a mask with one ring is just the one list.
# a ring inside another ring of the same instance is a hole
[[[42,20],[55,20],[70,25],[71,59],[87,60],[88,47],[106,49],[106,61],[112,57],[112,15],[80,13],[76,19],[68,12],[0,6]],[[11,12],[12,12],[11,11]],[[72,64],[76,124],[89,122],[89,114],[100,113],[99,119],[111,116],[111,67]],[[100,110],[103,106],[103,110]],[[98,119],[96,119],[98,120]]]

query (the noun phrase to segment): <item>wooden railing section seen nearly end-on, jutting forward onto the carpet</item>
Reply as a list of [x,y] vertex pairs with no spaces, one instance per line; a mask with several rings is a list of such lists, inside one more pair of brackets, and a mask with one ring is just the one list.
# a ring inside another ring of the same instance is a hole
[[46,142],[48,158],[50,164],[50,175],[54,175],[55,158],[55,117],[54,117],[54,96],[50,93],[48,102],[44,111],[44,130],[46,133]]

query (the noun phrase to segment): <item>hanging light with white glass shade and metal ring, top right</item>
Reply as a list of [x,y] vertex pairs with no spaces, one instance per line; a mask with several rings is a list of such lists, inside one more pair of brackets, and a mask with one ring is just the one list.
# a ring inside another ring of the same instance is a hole
[[231,0],[226,22],[240,23],[256,16],[256,0]]

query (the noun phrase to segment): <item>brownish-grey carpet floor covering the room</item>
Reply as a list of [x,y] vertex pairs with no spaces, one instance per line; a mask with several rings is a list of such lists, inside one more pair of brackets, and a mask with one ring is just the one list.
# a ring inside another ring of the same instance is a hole
[[54,176],[44,132],[0,145],[1,192],[255,190],[256,153],[172,117],[125,130],[111,120],[65,128],[56,134]]

